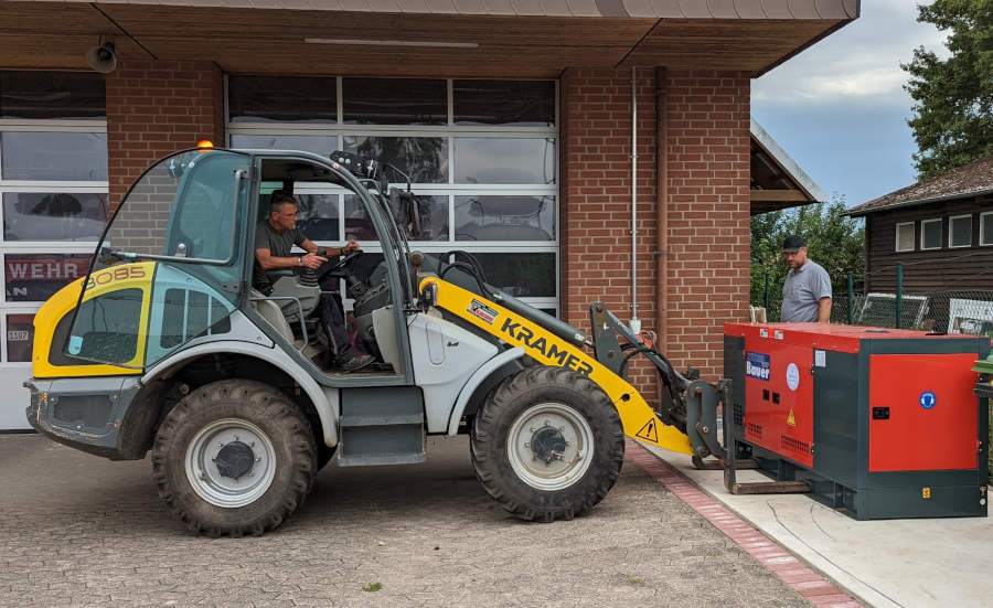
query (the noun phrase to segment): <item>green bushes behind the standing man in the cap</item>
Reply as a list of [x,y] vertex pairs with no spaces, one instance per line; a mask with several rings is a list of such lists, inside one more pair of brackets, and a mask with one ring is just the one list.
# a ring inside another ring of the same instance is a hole
[[848,289],[848,274],[865,271],[865,227],[861,220],[845,215],[845,198],[835,194],[828,203],[788,211],[772,211],[751,217],[751,302],[765,306],[769,285],[770,321],[779,319],[782,284],[789,268],[782,259],[782,239],[797,234],[807,239],[808,255],[828,270],[835,306],[832,320],[846,320],[841,306]]

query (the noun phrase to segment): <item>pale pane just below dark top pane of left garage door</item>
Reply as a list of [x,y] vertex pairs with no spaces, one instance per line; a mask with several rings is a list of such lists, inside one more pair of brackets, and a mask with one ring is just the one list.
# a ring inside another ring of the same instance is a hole
[[107,180],[107,134],[0,134],[4,180]]

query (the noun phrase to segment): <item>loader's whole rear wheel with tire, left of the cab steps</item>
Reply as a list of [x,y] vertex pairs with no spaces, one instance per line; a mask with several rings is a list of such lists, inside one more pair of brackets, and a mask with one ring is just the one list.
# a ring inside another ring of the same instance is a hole
[[186,395],[152,447],[159,495],[207,536],[258,536],[307,498],[318,456],[310,424],[280,391],[224,380]]

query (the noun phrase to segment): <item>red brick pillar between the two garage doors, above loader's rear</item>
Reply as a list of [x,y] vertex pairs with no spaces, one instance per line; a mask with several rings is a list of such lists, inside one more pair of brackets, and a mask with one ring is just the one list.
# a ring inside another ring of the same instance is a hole
[[122,61],[107,76],[110,204],[157,159],[224,142],[221,70],[209,62]]

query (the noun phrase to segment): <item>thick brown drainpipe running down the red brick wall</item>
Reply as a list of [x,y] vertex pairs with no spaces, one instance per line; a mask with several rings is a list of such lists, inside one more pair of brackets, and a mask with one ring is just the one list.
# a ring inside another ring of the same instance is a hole
[[656,349],[669,344],[669,86],[655,68],[655,331]]

